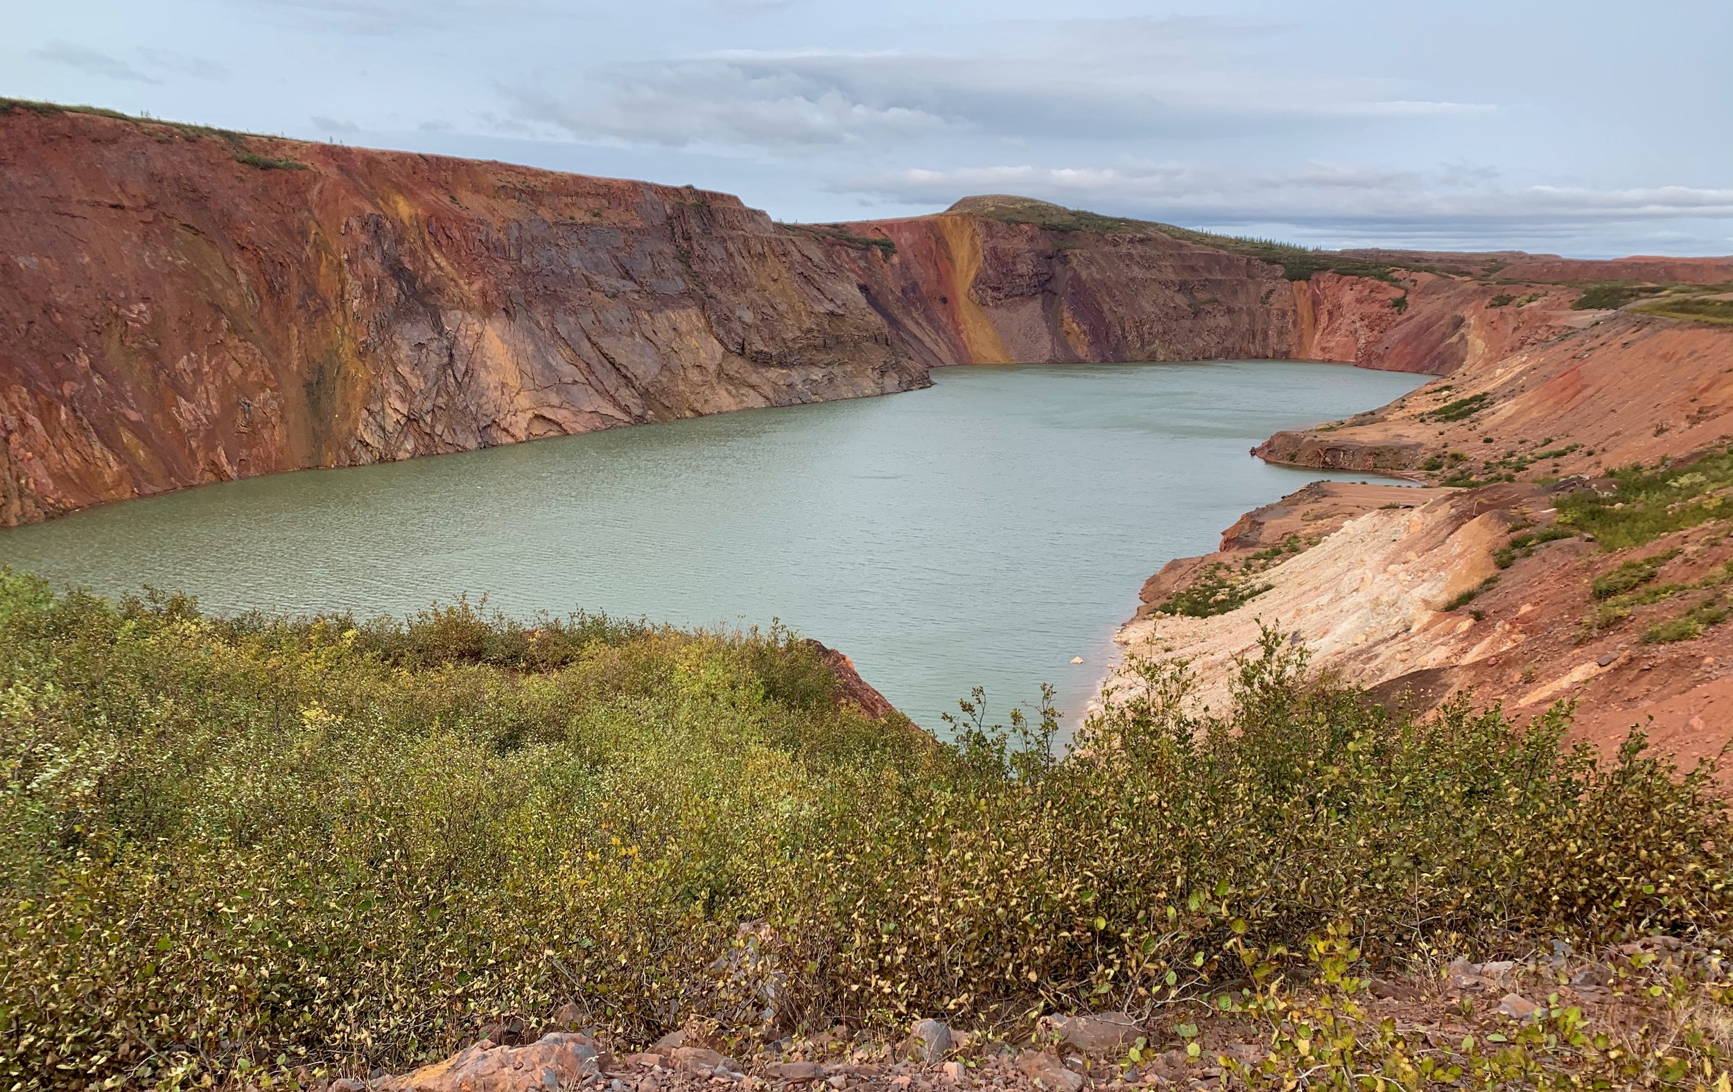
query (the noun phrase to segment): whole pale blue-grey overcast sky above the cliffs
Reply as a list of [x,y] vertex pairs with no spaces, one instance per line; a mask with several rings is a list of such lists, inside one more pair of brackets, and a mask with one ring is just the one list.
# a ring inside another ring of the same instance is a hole
[[[1733,253],[1733,0],[14,0],[0,94],[1317,246]],[[1062,16],[1057,12],[1064,12]]]

